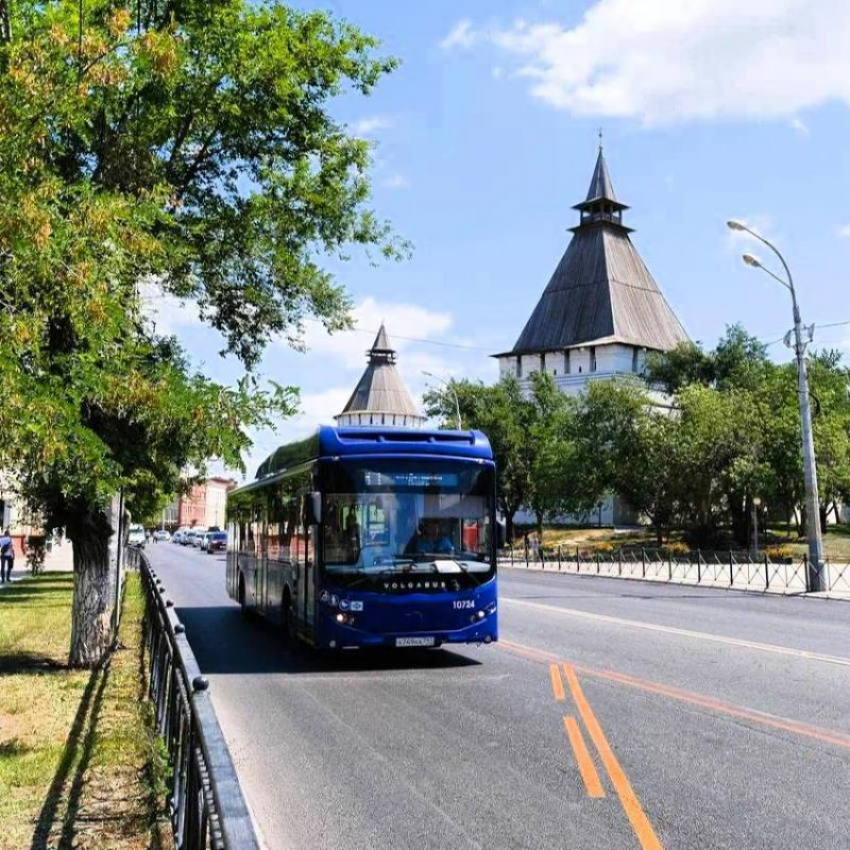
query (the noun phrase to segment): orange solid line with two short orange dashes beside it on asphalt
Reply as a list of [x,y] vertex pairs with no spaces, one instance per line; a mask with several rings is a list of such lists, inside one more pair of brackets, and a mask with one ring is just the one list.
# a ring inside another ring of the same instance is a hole
[[[590,735],[591,741],[593,741],[597,753],[599,753],[599,758],[602,760],[602,764],[611,779],[611,784],[614,786],[623,811],[632,825],[640,846],[643,850],[661,850],[661,842],[655,834],[655,830],[652,828],[652,824],[649,822],[649,818],[647,818],[637,794],[635,794],[626,776],[626,772],[623,770],[620,762],[617,761],[617,757],[614,755],[614,751],[611,749],[611,745],[608,743],[608,739],[605,737],[605,733],[602,731],[602,727],[599,725],[599,721],[596,719],[596,715],[593,713],[593,709],[584,695],[575,670],[566,663],[563,664],[563,669],[573,702],[578,709],[578,713],[584,722],[584,726]],[[566,699],[564,681],[561,677],[560,667],[557,664],[549,665],[549,678],[552,682],[552,694],[555,699],[558,701]],[[604,797],[605,789],[602,787],[596,765],[593,763],[593,758],[584,742],[581,727],[578,725],[575,717],[567,716],[564,718],[564,730],[572,747],[579,774],[587,790],[587,795],[596,799]]]

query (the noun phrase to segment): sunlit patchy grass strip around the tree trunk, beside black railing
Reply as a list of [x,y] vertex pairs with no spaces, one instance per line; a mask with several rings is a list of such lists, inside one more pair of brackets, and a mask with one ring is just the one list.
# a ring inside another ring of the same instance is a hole
[[119,649],[98,670],[67,667],[72,593],[70,573],[0,592],[0,850],[168,847],[139,576],[127,576]]

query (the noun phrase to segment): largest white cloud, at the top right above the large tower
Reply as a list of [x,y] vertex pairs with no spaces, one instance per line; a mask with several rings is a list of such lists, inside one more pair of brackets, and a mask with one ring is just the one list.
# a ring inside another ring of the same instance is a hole
[[573,27],[460,21],[442,45],[481,41],[515,58],[534,97],[577,115],[793,119],[850,103],[847,0],[597,0]]

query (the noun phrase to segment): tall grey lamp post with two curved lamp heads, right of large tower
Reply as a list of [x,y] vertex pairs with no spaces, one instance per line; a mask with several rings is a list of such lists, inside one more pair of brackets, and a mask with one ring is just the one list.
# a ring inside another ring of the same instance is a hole
[[770,269],[762,265],[761,260],[752,254],[744,254],[744,262],[748,266],[761,269],[774,280],[782,284],[791,293],[791,303],[794,307],[794,353],[797,356],[797,394],[800,403],[800,422],[802,425],[803,443],[803,478],[806,486],[806,529],[809,538],[809,587],[812,590],[825,590],[829,584],[825,570],[823,569],[823,538],[820,528],[820,503],[818,500],[818,473],[815,465],[815,441],[812,434],[812,409],[809,402],[809,379],[806,375],[806,346],[811,340],[803,340],[803,323],[800,319],[800,307],[797,304],[797,292],[794,289],[794,279],[791,270],[785,262],[785,258],[779,253],[779,249],[740,221],[726,222],[730,230],[739,230],[749,233],[779,258],[782,268],[785,269],[787,280],[774,274]]

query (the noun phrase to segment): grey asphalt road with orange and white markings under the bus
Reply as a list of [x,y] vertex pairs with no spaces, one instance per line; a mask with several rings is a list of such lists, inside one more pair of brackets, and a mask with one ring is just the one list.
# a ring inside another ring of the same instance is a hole
[[498,645],[329,660],[147,552],[269,848],[850,847],[850,604],[507,569]]

